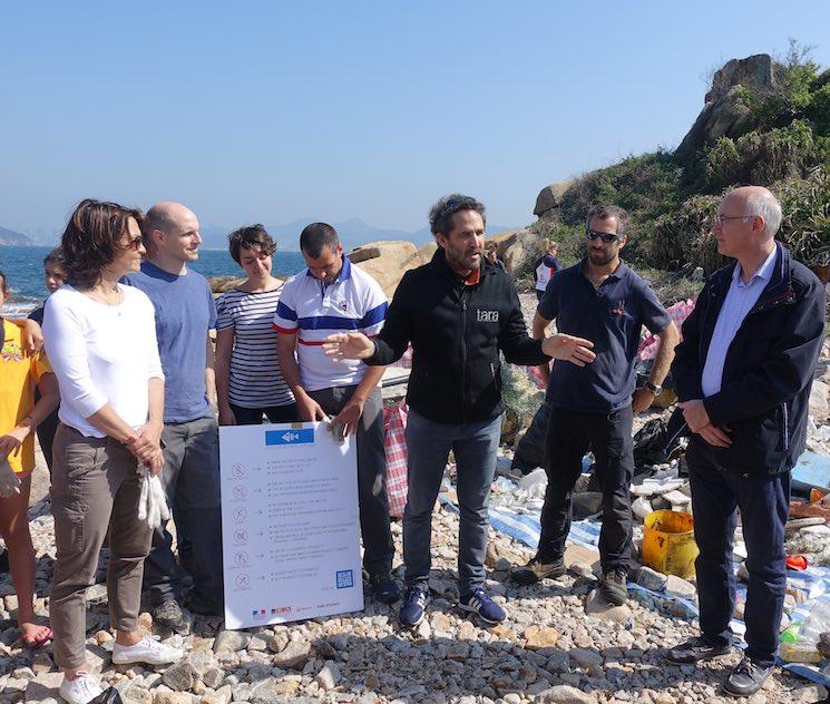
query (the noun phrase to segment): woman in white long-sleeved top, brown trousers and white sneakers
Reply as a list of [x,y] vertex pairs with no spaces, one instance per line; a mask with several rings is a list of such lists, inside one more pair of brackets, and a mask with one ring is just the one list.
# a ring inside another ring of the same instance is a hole
[[[140,211],[82,201],[61,247],[68,283],[46,303],[43,336],[64,402],[52,465],[57,560],[50,616],[60,695],[86,704],[101,693],[86,665],[87,587],[104,539],[116,664],[172,663],[182,652],[138,633],[144,558],[153,535],[139,520],[143,476],[162,471],[164,374],[153,304],[119,280],[137,272]],[[146,468],[146,469],[145,469]]]

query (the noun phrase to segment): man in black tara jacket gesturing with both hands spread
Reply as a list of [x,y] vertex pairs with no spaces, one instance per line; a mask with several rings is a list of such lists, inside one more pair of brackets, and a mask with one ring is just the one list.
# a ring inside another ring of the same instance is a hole
[[531,340],[516,286],[484,257],[485,206],[451,195],[430,211],[439,248],[432,261],[407,272],[394,293],[380,335],[330,335],[334,359],[390,364],[412,343],[407,448],[409,492],[403,514],[407,595],[400,610],[417,626],[429,604],[432,507],[450,449],[458,469],[460,509],[458,573],[460,607],[491,624],[505,610],[484,587],[487,502],[501,430],[499,350],[508,362],[536,365],[551,356],[584,365],[592,343],[555,335]]

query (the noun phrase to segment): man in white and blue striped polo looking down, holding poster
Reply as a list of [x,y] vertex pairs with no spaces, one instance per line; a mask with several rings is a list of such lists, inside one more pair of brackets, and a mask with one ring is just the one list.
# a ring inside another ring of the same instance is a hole
[[394,544],[378,385],[385,368],[359,361],[335,364],[322,348],[334,332],[375,336],[389,304],[378,282],[343,255],[331,225],[309,225],[300,234],[300,250],[309,267],[285,283],[274,316],[280,369],[296,399],[300,420],[333,417],[332,426],[341,437],[357,433],[363,568],[374,598],[391,604],[400,599],[400,589],[391,575]]

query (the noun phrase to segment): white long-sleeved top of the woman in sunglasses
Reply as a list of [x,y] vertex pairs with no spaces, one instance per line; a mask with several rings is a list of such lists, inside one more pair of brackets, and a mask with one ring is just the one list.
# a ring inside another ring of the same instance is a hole
[[144,426],[148,382],[164,379],[153,303],[138,289],[119,289],[119,305],[68,285],[46,302],[43,340],[60,385],[58,418],[88,438],[105,437],[87,419],[107,403],[131,428]]

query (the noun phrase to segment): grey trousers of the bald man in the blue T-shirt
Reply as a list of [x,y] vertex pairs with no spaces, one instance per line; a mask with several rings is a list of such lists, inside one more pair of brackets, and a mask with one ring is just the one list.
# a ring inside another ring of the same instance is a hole
[[150,603],[182,599],[182,568],[193,577],[201,603],[222,610],[222,502],[218,431],[213,415],[186,423],[166,423],[162,440],[162,483],[176,524],[178,563],[165,525],[153,534],[144,564],[144,590]]

